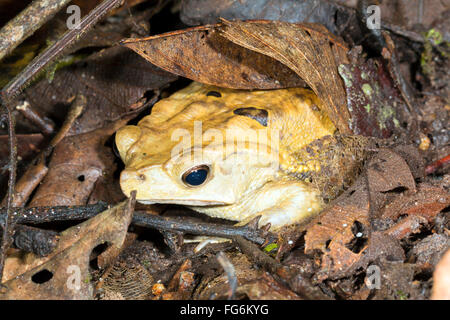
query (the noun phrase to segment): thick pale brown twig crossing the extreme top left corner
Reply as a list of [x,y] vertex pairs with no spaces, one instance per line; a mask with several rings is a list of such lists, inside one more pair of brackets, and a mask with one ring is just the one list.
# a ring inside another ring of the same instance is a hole
[[34,0],[0,30],[0,60],[67,5],[70,0]]

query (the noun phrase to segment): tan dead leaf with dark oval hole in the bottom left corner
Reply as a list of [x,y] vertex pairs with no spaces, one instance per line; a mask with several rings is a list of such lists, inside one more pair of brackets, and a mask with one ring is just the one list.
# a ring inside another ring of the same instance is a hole
[[19,265],[7,260],[0,299],[92,299],[91,253],[105,243],[122,247],[133,208],[134,199],[130,198],[65,230],[46,257],[28,254]]

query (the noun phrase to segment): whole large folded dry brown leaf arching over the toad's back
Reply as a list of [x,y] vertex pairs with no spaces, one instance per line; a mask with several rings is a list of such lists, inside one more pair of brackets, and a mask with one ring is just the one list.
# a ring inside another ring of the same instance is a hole
[[348,48],[321,25],[224,21],[122,44],[167,71],[221,87],[277,89],[306,82],[339,131],[350,133],[337,72]]

